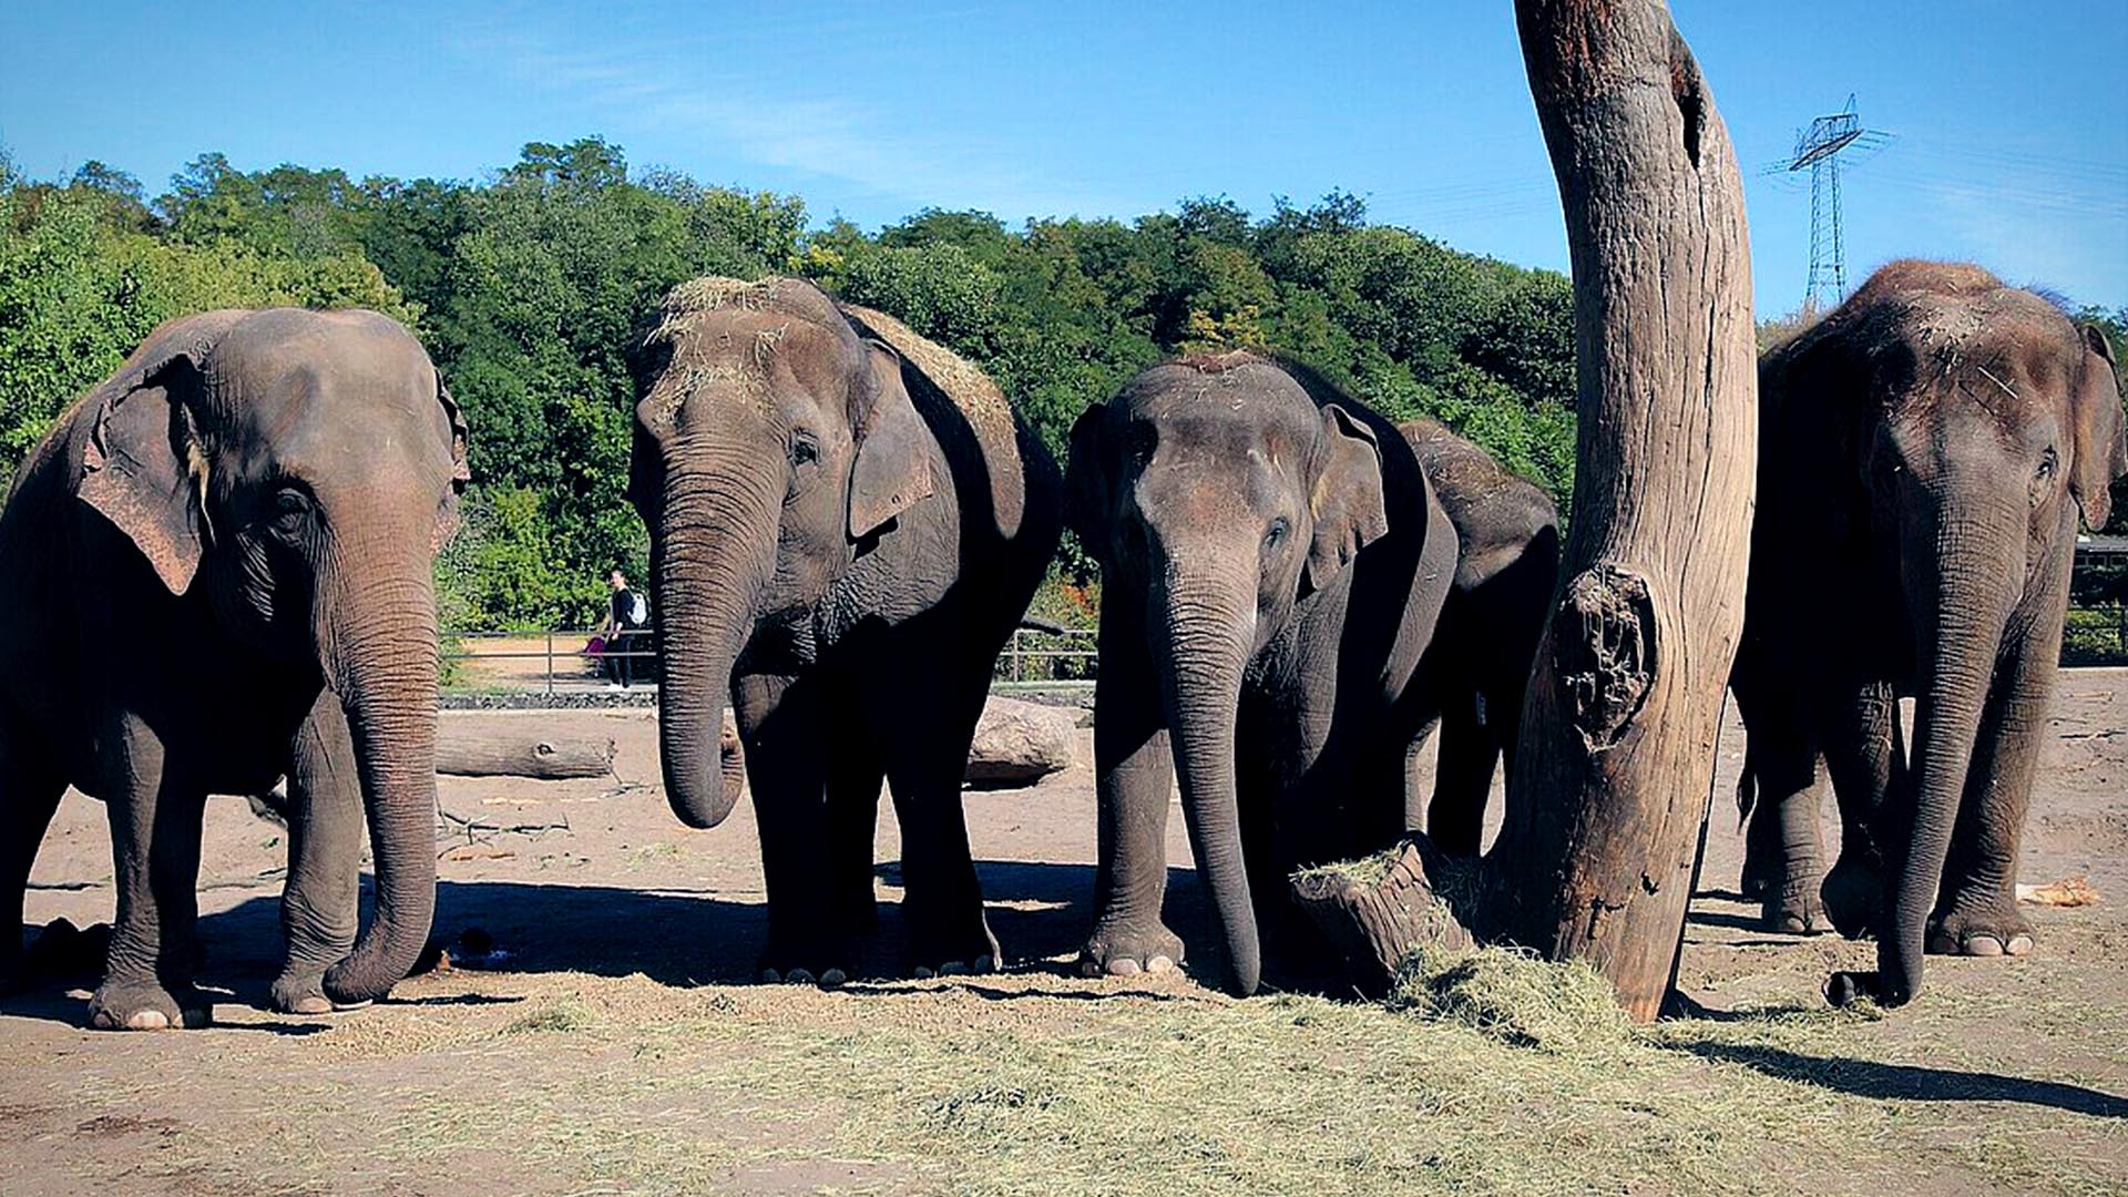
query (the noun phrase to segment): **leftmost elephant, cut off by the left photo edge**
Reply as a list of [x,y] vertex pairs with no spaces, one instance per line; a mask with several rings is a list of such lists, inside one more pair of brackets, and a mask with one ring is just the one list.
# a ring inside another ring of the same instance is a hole
[[60,417],[0,515],[0,978],[72,784],[109,805],[117,871],[92,1024],[202,1024],[200,814],[283,773],[275,1003],[362,1003],[406,975],[436,901],[430,560],[464,449],[421,345],[370,311],[172,319]]

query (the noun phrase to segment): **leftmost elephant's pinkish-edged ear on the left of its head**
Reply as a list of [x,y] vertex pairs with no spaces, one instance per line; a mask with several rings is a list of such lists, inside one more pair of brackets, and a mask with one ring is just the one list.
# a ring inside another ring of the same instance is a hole
[[126,532],[170,594],[192,588],[213,539],[206,452],[189,400],[209,349],[240,315],[215,311],[157,328],[85,400],[89,443],[74,494]]

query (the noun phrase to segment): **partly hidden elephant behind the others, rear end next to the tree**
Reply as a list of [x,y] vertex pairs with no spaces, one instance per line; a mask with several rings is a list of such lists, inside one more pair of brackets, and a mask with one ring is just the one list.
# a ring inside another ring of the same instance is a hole
[[[1549,494],[1434,420],[1411,420],[1400,432],[1458,543],[1456,584],[1419,662],[1441,728],[1434,792],[1424,820],[1413,807],[1404,824],[1426,826],[1447,854],[1477,856],[1494,767],[1502,758],[1515,767],[1522,690],[1560,575],[1560,511]],[[1430,733],[1422,731],[1422,743]]]

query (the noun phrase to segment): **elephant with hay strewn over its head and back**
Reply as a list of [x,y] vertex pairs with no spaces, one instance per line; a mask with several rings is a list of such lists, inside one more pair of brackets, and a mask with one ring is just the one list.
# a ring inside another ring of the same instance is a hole
[[666,799],[698,829],[730,814],[730,701],[768,884],[762,980],[851,975],[881,780],[909,969],[996,967],[960,782],[1062,535],[1055,462],[981,371],[804,279],[681,283],[638,368]]

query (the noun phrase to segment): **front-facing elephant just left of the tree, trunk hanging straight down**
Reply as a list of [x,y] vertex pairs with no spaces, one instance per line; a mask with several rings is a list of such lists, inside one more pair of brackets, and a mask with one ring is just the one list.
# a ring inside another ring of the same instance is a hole
[[1407,831],[1415,677],[1456,530],[1394,424],[1245,349],[1156,364],[1090,407],[1066,524],[1102,577],[1081,971],[1183,961],[1160,914],[1179,775],[1226,986],[1253,993],[1260,916],[1307,944],[1287,873]]

